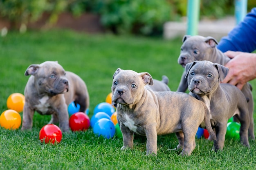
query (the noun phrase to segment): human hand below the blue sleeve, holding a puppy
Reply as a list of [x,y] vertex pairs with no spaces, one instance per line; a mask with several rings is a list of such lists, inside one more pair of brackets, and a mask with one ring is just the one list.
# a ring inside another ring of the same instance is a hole
[[242,89],[247,81],[256,78],[256,54],[248,52],[227,51],[231,60],[225,65],[229,72],[222,83],[236,85]]

